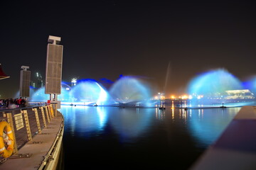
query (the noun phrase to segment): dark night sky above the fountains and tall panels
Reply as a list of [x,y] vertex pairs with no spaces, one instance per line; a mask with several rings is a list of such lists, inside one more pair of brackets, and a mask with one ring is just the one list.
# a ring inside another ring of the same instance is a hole
[[146,77],[182,94],[201,72],[225,68],[238,79],[256,74],[255,1],[18,1],[0,4],[0,63],[11,78],[0,95],[19,89],[22,65],[46,70],[48,35],[60,36],[63,81],[119,74]]

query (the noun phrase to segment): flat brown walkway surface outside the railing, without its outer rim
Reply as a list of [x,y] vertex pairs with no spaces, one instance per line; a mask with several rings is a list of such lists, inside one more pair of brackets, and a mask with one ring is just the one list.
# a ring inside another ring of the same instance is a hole
[[62,123],[63,116],[58,113],[57,117],[47,124],[47,128],[44,128],[41,134],[34,136],[32,141],[18,150],[18,155],[21,155],[22,158],[18,158],[18,155],[14,154],[6,162],[0,164],[0,169],[38,169],[58,136]]

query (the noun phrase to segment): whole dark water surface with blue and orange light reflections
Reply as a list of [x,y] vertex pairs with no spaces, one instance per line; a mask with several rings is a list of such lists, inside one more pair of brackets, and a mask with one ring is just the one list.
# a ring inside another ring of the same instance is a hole
[[188,169],[239,110],[61,106],[63,166]]

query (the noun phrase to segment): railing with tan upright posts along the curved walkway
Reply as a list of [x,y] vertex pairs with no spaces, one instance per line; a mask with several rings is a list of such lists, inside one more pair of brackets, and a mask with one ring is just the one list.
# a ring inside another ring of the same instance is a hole
[[[43,128],[47,128],[50,120],[56,115],[57,106],[53,104],[0,110],[0,121],[6,120],[14,132],[13,154],[18,154],[18,149],[32,141],[33,136],[40,134]],[[1,156],[0,159],[2,159]]]

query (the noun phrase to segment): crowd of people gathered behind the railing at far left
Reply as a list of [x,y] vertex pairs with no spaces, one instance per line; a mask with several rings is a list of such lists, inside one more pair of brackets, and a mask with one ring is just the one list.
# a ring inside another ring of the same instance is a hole
[[0,99],[1,108],[24,108],[26,107],[25,98]]

